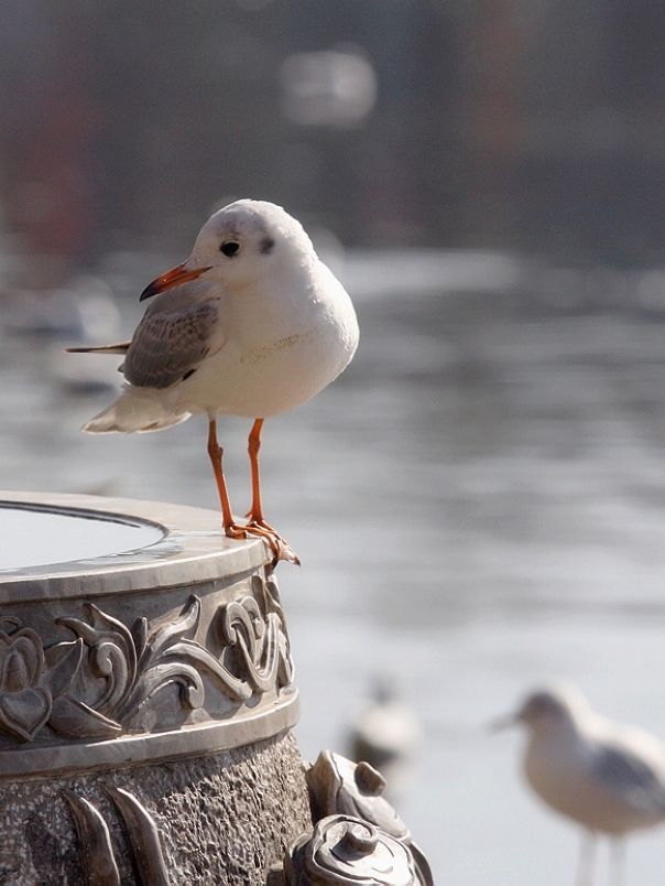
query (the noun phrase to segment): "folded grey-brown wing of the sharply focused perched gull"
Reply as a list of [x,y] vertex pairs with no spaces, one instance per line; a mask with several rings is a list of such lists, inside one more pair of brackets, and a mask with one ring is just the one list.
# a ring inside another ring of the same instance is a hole
[[209,354],[218,315],[216,301],[149,310],[127,352],[126,379],[138,388],[168,388],[182,381]]

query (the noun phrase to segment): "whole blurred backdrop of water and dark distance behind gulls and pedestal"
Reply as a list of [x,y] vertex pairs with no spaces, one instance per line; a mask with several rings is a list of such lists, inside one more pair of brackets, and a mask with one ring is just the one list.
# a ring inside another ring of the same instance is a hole
[[573,882],[488,732],[534,684],[665,738],[664,110],[655,0],[0,0],[0,486],[216,508],[205,422],[86,437],[119,360],[62,349],[131,334],[214,208],[299,218],[361,345],[264,433],[298,742],[350,754],[390,688],[437,884]]

